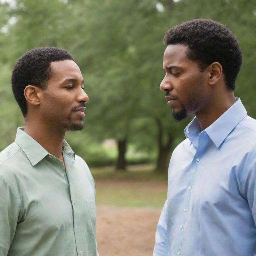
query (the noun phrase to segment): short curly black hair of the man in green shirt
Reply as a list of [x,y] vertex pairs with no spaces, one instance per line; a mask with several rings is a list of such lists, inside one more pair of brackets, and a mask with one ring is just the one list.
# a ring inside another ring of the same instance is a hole
[[50,63],[60,60],[75,61],[74,57],[62,48],[38,47],[23,54],[16,62],[12,70],[12,92],[23,116],[26,116],[28,111],[24,89],[28,85],[46,89],[52,76]]

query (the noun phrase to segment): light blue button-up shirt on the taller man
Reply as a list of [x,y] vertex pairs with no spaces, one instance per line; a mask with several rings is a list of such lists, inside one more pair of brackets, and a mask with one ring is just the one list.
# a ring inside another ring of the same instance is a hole
[[256,120],[237,99],[201,131],[185,129],[168,170],[154,256],[256,255]]

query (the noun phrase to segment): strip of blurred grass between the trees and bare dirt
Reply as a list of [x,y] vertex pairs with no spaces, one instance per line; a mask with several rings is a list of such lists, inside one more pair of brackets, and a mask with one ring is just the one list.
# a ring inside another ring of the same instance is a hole
[[167,196],[167,175],[152,170],[152,165],[129,166],[126,172],[116,172],[114,167],[92,168],[96,203],[162,208]]

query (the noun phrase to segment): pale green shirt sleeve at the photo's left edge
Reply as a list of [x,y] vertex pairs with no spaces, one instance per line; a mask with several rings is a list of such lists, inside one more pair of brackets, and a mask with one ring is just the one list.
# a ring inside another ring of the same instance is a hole
[[15,234],[20,210],[20,199],[0,174],[0,256],[8,254]]

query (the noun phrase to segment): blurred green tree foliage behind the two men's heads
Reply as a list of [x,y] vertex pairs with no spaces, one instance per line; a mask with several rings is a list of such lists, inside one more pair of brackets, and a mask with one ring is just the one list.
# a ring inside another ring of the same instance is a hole
[[[162,9],[156,4],[162,4]],[[135,152],[155,158],[157,120],[162,144],[171,134],[174,148],[184,138],[189,119],[175,122],[159,91],[164,76],[162,38],[171,26],[193,18],[218,20],[237,36],[244,61],[235,94],[255,118],[255,14],[253,0],[106,0],[100,4],[93,0],[16,0],[14,7],[0,4],[0,148],[10,144],[16,127],[23,125],[10,89],[12,66],[24,52],[38,46],[66,48],[82,70],[90,98],[86,126],[82,132],[68,134],[67,140],[87,162],[113,163],[116,155],[101,146],[106,138],[127,137]]]

